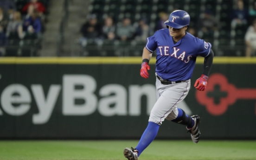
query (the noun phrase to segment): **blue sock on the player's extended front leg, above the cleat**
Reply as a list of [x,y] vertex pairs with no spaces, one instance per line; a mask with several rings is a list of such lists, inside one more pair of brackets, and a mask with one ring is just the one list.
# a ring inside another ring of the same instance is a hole
[[147,128],[141,136],[141,140],[139,141],[137,147],[135,147],[139,152],[138,157],[144,151],[144,149],[146,149],[147,146],[155,139],[159,127],[160,125],[154,122],[148,122]]

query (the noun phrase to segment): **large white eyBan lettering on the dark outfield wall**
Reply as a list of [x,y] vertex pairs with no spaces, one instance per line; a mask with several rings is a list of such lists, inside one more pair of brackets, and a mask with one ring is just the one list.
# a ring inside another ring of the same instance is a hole
[[[156,102],[155,86],[152,84],[129,85],[128,90],[120,84],[107,84],[99,89],[99,96],[96,96],[97,83],[89,75],[64,75],[62,80],[62,85],[51,84],[48,93],[44,93],[41,84],[31,84],[31,92],[19,83],[6,86],[0,97],[0,115],[25,115],[31,109],[32,98],[38,108],[38,113],[32,114],[33,124],[47,123],[56,105],[62,106],[65,116],[86,116],[96,110],[102,116],[139,116],[141,96],[147,96],[148,115]],[[57,104],[61,91],[62,104]],[[82,103],[77,104],[77,100]]]

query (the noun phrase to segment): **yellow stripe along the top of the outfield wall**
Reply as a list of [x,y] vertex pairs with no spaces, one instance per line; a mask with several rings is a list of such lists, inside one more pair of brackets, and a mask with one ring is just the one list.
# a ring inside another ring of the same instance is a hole
[[[204,58],[198,57],[197,64]],[[256,64],[256,58],[215,57],[214,64]],[[141,64],[141,57],[39,57],[39,58],[0,58],[0,64]],[[149,64],[155,64],[155,57]]]

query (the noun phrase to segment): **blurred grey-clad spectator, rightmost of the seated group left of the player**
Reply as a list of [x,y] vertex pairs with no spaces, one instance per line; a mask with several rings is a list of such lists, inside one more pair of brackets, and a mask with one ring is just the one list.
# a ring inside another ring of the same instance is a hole
[[139,26],[136,28],[135,39],[139,41],[146,41],[149,37],[149,26],[147,25],[147,19],[141,19]]

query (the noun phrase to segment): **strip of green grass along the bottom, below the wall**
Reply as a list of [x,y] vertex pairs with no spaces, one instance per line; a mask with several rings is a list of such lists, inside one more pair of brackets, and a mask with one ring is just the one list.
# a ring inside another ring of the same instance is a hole
[[[0,160],[127,160],[138,141],[0,141]],[[256,141],[153,141],[139,160],[256,160]]]

